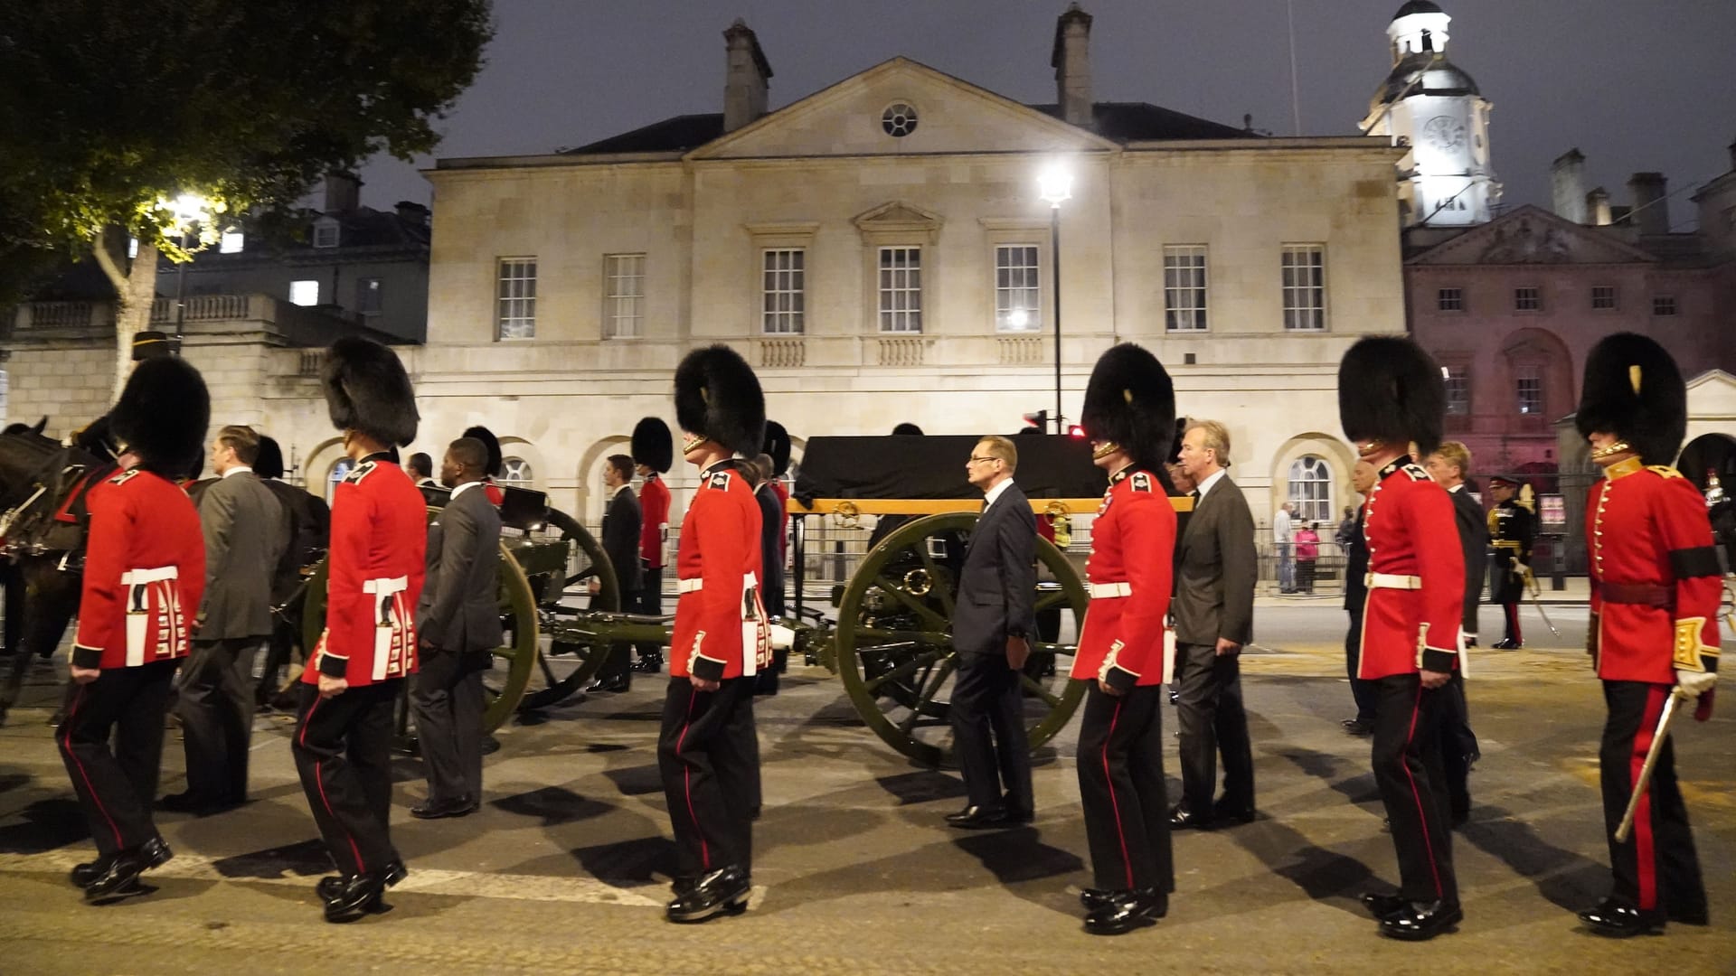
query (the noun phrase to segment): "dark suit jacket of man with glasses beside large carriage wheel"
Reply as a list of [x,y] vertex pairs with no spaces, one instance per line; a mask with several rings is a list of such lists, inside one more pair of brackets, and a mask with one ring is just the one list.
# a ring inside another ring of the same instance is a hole
[[1005,655],[1007,637],[1035,634],[1035,596],[1036,516],[1024,491],[1009,483],[970,531],[953,606],[953,648]]

